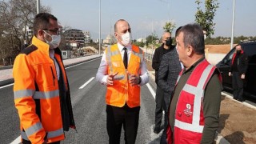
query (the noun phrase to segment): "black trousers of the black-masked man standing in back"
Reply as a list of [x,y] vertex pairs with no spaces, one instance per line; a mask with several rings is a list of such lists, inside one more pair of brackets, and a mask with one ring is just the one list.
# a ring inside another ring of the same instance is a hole
[[160,129],[162,123],[162,110],[164,108],[164,99],[163,99],[164,91],[157,86],[157,91],[155,95],[155,114],[154,114],[154,126]]

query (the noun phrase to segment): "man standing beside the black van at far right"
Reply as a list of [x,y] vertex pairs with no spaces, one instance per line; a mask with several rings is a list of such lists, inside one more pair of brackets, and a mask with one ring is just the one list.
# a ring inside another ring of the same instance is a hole
[[248,67],[248,58],[244,54],[241,45],[235,47],[236,53],[234,53],[232,58],[232,63],[230,66],[229,76],[232,75],[232,87],[234,99],[239,102],[243,102],[243,81],[246,78],[246,70]]

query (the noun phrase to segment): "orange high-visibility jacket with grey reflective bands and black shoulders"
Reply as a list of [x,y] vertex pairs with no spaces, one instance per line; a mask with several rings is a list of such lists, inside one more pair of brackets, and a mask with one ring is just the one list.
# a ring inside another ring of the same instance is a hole
[[[70,90],[60,50],[56,58],[66,88],[70,127],[74,126]],[[14,62],[14,102],[20,118],[21,137],[31,143],[57,142],[65,138],[61,102],[54,60],[49,45],[34,37],[32,45],[18,54]]]

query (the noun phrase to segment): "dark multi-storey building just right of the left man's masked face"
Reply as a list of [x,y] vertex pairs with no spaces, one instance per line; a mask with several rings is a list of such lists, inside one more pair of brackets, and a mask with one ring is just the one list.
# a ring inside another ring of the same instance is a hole
[[63,34],[66,42],[75,41],[78,42],[78,46],[84,46],[85,34],[82,32],[82,30],[66,30]]

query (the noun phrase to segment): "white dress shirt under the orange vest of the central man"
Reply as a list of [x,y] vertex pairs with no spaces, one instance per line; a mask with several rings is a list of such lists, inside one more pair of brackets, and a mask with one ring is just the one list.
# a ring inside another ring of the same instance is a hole
[[[120,43],[118,43],[118,49],[120,50],[122,58],[123,58],[123,54],[124,54],[124,51],[125,51],[125,50],[122,50],[123,48],[124,48],[124,46],[122,46]],[[126,48],[127,48],[128,66],[129,66],[130,54],[131,54],[131,45],[126,46]],[[108,75],[107,75],[107,62],[106,62],[106,51],[105,51],[104,54],[102,55],[101,64],[98,67],[98,72],[96,74],[96,80],[98,82],[101,82],[102,84],[106,85],[107,77],[108,77]],[[140,77],[142,78],[142,82],[139,84],[139,86],[143,86],[144,84],[149,82],[149,76],[148,76],[148,72],[146,70],[146,63],[145,63],[144,59],[142,59],[142,67],[141,67]]]

